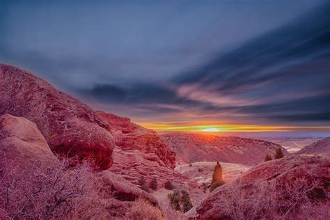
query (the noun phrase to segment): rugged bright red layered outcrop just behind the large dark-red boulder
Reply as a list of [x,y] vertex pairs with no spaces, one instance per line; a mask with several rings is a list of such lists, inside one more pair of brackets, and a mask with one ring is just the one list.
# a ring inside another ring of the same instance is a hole
[[110,125],[109,132],[113,134],[116,146],[123,150],[139,150],[152,155],[153,159],[162,166],[175,167],[175,153],[155,131],[136,125],[129,118],[103,111],[97,113]]

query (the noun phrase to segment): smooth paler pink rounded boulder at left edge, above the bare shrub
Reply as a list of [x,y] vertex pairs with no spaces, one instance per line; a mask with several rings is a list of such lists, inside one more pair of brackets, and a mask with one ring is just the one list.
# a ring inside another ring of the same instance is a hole
[[57,158],[35,123],[9,114],[0,117],[0,168],[10,164],[52,164]]

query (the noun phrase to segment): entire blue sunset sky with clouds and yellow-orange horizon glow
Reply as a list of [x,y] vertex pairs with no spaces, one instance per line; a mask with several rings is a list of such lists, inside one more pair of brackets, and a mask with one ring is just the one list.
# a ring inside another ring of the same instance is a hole
[[329,1],[0,1],[0,63],[152,129],[330,132]]

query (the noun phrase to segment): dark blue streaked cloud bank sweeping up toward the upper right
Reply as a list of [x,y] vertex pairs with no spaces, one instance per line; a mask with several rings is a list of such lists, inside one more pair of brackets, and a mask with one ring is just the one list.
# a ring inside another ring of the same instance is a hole
[[[212,114],[214,120],[218,119],[217,114],[220,117],[221,113],[230,113],[233,118],[235,114],[244,115],[253,123],[258,118],[283,125],[329,125],[329,15],[330,3],[323,3],[280,28],[162,82],[144,79],[109,84],[99,81],[84,88],[71,86],[67,89],[88,102],[97,100],[109,109],[122,108],[121,112],[132,116],[136,106],[143,108],[146,104],[146,118],[150,112],[160,116],[194,111]],[[0,49],[3,57],[19,59],[15,49],[1,43]],[[40,54],[33,56],[24,61],[33,63]],[[44,62],[36,65],[45,71],[54,67],[56,72],[58,65],[70,71],[75,65],[70,61],[39,60]],[[84,61],[80,64],[84,71],[88,70]],[[65,88],[65,83],[60,81],[59,84]],[[191,91],[181,93],[182,88],[191,88]],[[212,94],[212,99],[201,95],[207,93]],[[242,102],[237,104],[235,100]]]

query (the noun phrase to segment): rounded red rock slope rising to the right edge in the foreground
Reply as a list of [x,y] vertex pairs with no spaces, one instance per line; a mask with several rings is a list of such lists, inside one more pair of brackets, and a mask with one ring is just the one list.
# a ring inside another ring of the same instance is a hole
[[330,155],[301,155],[255,166],[187,212],[194,219],[327,219]]

